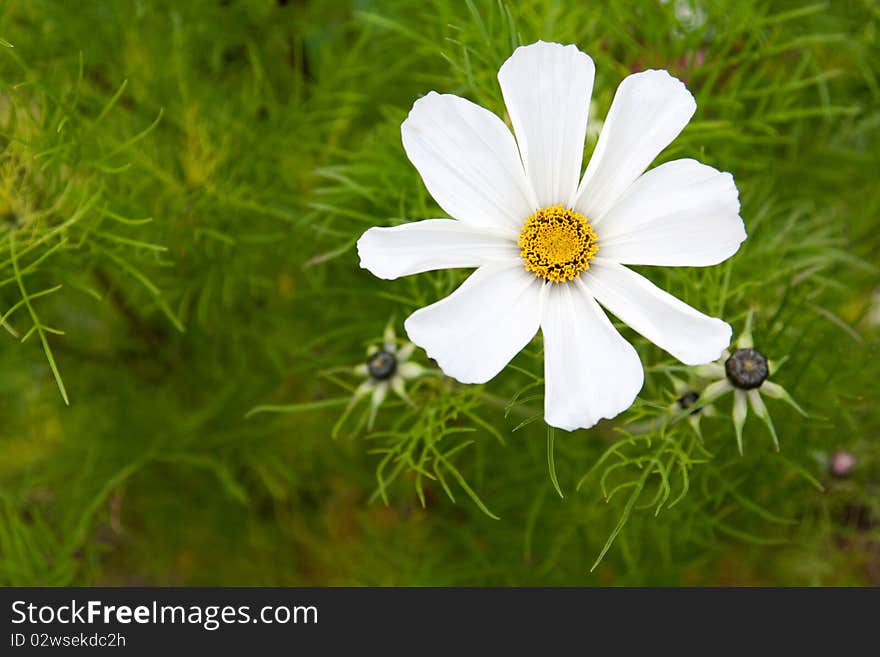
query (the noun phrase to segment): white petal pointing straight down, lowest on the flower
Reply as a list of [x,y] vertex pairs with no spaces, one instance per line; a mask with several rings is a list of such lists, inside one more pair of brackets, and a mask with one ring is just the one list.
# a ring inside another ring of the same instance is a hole
[[580,282],[549,286],[544,334],[544,420],[566,431],[629,408],[644,381],[638,354]]

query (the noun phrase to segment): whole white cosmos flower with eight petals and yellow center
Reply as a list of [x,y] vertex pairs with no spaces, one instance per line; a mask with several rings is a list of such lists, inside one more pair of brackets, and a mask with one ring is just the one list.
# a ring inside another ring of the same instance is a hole
[[371,228],[358,241],[361,266],[380,278],[476,267],[406,320],[410,340],[448,375],[484,383],[540,328],[545,420],[567,430],[614,417],[642,387],[635,349],[599,304],[688,365],[730,342],[726,323],[625,265],[714,265],[746,237],[729,173],[689,159],[645,173],[696,109],[666,71],[620,84],[581,178],[594,72],[573,45],[517,48],[498,72],[516,139],[464,98],[417,100],[403,147],[453,218]]

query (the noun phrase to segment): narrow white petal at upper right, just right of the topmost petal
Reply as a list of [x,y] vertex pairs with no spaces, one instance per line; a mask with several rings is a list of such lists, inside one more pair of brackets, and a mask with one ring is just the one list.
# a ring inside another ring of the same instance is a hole
[[697,109],[684,84],[666,71],[642,71],[617,88],[575,209],[601,220],[632,182],[687,125]]

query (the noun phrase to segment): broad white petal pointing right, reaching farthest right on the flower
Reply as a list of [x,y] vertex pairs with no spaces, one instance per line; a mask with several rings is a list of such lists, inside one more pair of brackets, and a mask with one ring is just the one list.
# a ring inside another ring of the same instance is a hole
[[648,171],[597,223],[602,257],[625,265],[717,265],[746,238],[733,176],[696,160]]

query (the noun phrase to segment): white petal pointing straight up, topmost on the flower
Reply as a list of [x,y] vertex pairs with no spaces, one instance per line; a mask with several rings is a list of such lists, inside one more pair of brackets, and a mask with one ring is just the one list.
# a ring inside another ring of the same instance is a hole
[[596,66],[575,46],[520,46],[498,71],[526,174],[541,207],[574,199]]

